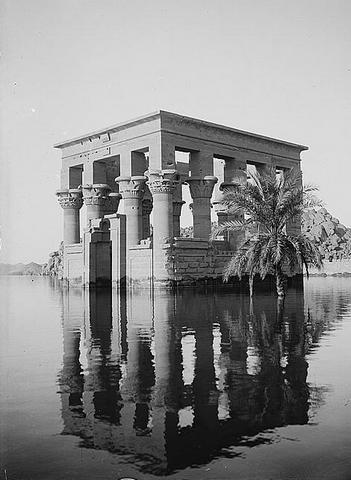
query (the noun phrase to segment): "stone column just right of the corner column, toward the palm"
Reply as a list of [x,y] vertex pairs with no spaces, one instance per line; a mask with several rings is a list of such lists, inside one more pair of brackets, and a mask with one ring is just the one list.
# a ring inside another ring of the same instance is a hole
[[217,177],[189,177],[186,183],[190,187],[193,199],[194,238],[208,240],[211,235],[211,197]]

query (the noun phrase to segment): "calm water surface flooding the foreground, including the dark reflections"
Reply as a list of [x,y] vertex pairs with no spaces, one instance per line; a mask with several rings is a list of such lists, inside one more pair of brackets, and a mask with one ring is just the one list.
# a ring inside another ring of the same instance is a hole
[[0,277],[0,478],[351,479],[351,279],[133,296]]

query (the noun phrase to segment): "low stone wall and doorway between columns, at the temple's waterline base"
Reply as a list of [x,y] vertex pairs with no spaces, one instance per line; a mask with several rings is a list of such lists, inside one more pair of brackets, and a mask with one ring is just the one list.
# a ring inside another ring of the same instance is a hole
[[[119,214],[94,220],[82,243],[64,247],[66,285],[171,289],[223,284],[224,267],[235,253],[227,242],[176,237],[160,248],[151,237],[127,248],[125,220]],[[300,277],[294,275],[289,281],[299,283]],[[245,288],[247,279],[232,279],[229,284]],[[263,285],[273,288],[269,277]]]

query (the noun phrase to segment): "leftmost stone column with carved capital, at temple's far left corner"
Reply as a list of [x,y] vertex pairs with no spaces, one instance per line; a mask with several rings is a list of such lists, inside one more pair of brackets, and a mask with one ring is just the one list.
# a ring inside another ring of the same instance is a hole
[[63,243],[64,245],[79,243],[79,210],[83,205],[82,192],[78,188],[71,188],[58,190],[56,195],[63,208]]

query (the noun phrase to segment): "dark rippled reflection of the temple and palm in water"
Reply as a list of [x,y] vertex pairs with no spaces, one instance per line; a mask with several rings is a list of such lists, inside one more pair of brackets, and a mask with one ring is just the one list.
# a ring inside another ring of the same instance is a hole
[[[308,422],[302,292],[63,292],[63,434],[167,474]],[[84,311],[84,317],[81,312]]]

